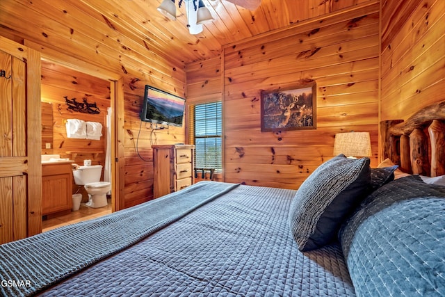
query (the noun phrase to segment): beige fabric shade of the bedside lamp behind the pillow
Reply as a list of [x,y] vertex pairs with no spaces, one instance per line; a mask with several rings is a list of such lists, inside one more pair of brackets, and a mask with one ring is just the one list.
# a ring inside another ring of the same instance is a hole
[[335,134],[334,156],[371,156],[371,137],[369,132],[349,132]]

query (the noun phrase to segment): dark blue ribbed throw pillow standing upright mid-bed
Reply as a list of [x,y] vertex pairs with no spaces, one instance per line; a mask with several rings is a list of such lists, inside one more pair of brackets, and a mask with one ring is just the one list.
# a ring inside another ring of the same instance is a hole
[[369,158],[343,154],[321,164],[307,177],[291,202],[289,219],[298,249],[314,250],[330,243],[350,211],[370,187]]

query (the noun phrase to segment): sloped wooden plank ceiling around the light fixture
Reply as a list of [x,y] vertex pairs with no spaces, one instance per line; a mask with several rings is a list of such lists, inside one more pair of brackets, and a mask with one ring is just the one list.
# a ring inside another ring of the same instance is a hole
[[[20,36],[29,28],[42,35],[81,30],[105,45],[108,38],[119,42],[133,55],[144,56],[149,49],[173,63],[188,64],[218,56],[223,45],[369,0],[262,0],[253,11],[226,0],[203,0],[214,20],[197,35],[188,32],[185,6],[179,8],[178,1],[177,20],[172,21],[156,10],[161,0],[1,0],[0,29]],[[73,22],[78,23],[75,29]],[[35,35],[29,39],[35,41]]]

